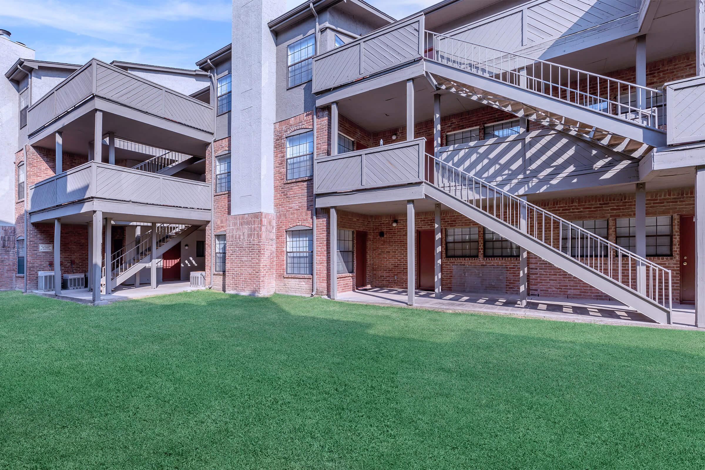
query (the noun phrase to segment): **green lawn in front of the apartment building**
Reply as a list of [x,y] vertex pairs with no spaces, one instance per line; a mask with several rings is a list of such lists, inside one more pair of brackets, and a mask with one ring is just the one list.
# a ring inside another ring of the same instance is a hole
[[702,469],[705,334],[0,294],[8,469]]

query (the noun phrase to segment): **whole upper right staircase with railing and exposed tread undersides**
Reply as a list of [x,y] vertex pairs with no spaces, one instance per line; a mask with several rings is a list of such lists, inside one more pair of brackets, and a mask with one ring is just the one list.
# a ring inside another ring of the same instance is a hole
[[436,87],[639,159],[666,145],[665,94],[426,32]]

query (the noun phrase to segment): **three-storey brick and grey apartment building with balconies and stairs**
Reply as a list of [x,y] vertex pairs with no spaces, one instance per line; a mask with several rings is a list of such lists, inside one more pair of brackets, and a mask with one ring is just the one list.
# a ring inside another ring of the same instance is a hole
[[176,262],[247,295],[690,303],[704,326],[701,4],[235,0],[197,70],[73,66],[20,132],[11,287]]

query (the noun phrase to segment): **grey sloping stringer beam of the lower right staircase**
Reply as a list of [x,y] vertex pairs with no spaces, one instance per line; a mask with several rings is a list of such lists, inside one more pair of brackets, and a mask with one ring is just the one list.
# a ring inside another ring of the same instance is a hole
[[464,202],[461,199],[458,199],[457,197],[454,197],[443,190],[430,185],[429,183],[424,183],[424,192],[429,197],[436,200],[436,202],[440,202],[441,204],[450,207],[450,209],[471,218],[480,225],[489,228],[489,230],[498,233],[507,240],[516,243],[520,247],[527,249],[527,251],[539,256],[541,259],[548,261],[548,263],[553,264],[553,266],[556,266],[566,273],[569,273],[572,276],[575,276],[585,283],[595,287],[596,289],[601,290],[613,299],[632,307],[633,309],[648,316],[650,319],[658,323],[669,322],[670,312],[666,307],[653,302],[651,299],[635,292],[626,285],[620,284],[608,276],[585,266],[572,256],[559,252],[557,249],[536,240],[528,233],[522,232],[513,225],[505,223],[500,219],[487,214],[485,211],[482,211],[482,209],[479,209],[472,204],[468,204],[467,202]]

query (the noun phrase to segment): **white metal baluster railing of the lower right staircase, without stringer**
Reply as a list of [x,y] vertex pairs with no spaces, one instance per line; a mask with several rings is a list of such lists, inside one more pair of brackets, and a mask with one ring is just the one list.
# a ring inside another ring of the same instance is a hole
[[[534,240],[669,312],[673,309],[670,270],[429,154],[426,154],[425,173],[426,183],[514,228],[522,230],[525,218],[526,228],[522,231]],[[639,271],[644,285],[637,280]]]

